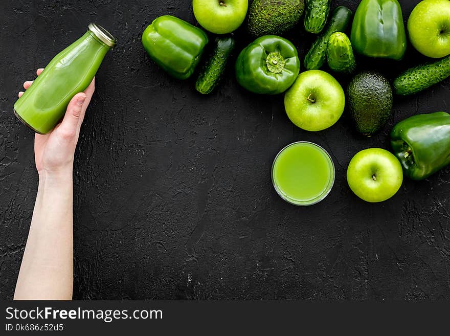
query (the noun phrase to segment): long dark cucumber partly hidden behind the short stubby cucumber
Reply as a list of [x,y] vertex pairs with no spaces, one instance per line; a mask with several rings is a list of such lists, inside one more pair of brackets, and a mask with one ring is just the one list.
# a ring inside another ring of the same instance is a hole
[[345,6],[339,6],[333,11],[330,23],[318,39],[312,43],[312,47],[305,57],[304,64],[307,70],[321,68],[325,63],[328,39],[335,32],[344,32],[350,23],[352,15],[352,11]]

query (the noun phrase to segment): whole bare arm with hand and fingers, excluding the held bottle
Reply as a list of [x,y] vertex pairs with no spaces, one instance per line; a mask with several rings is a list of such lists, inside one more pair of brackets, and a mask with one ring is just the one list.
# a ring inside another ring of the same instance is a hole
[[[42,70],[36,74],[39,76]],[[26,81],[24,88],[32,83]],[[94,90],[93,80],[84,93],[71,99],[60,124],[46,135],[35,135],[39,186],[14,299],[72,298],[72,170],[80,127]]]

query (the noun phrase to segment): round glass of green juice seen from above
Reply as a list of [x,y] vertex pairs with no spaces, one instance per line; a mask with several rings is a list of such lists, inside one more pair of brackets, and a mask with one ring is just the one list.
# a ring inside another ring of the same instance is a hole
[[281,198],[290,204],[313,205],[324,199],[333,187],[334,164],[319,145],[295,142],[276,156],[272,182]]

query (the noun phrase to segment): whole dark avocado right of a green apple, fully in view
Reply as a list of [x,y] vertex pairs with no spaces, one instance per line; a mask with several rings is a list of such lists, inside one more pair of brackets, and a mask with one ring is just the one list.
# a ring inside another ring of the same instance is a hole
[[391,84],[379,73],[359,73],[347,87],[347,101],[356,130],[370,137],[391,116]]

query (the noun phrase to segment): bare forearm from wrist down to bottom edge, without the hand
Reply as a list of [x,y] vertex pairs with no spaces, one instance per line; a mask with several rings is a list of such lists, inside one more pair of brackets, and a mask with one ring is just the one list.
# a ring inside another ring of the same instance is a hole
[[72,186],[72,168],[40,174],[14,299],[72,298]]

